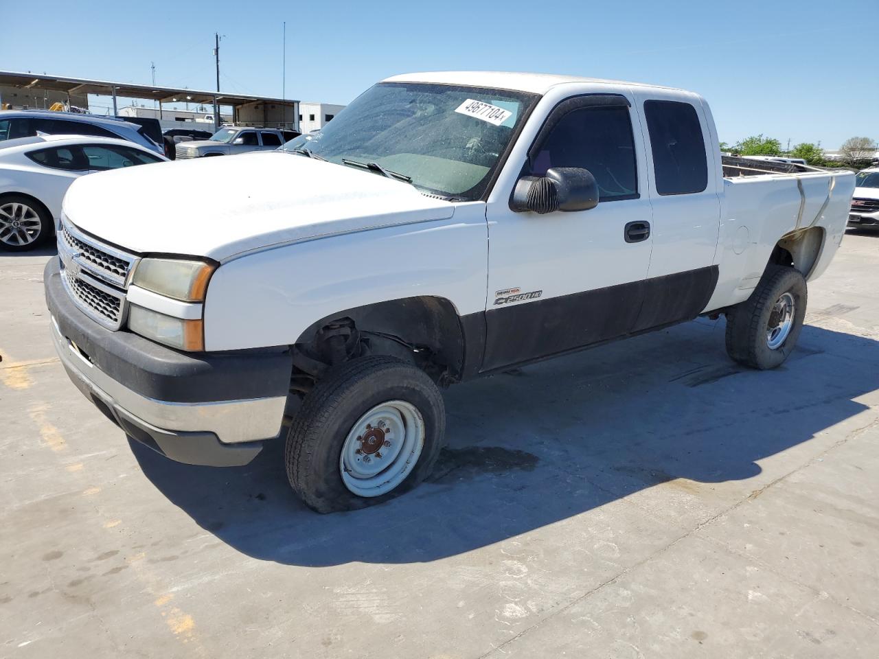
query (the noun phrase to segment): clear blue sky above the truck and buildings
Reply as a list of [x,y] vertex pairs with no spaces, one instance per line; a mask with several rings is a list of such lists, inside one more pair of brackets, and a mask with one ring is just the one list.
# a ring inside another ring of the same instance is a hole
[[[698,91],[721,139],[879,139],[879,0],[16,2],[0,69],[347,103],[396,73],[541,71]],[[21,29],[10,29],[15,25]],[[25,27],[26,26],[26,27]]]

